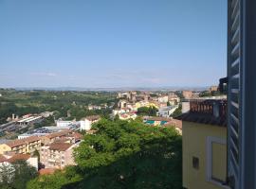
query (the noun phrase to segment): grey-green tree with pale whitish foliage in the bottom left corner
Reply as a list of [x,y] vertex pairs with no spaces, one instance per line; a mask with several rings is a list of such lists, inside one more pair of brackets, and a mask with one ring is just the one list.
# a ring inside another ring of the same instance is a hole
[[25,161],[0,166],[0,188],[24,189],[27,181],[37,177],[37,170]]

